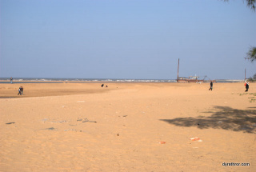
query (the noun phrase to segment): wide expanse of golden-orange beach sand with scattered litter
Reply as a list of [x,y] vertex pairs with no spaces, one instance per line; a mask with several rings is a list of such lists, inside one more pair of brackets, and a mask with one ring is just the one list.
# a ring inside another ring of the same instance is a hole
[[255,170],[256,83],[107,85],[0,84],[0,171]]

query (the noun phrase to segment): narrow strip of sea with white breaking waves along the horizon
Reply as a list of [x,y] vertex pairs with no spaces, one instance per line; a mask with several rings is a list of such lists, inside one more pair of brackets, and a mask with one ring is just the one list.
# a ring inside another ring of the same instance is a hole
[[[244,82],[243,80],[215,79],[219,83]],[[13,78],[13,83],[98,83],[98,82],[177,82],[176,79],[114,79],[114,78]],[[205,80],[204,82],[210,82]],[[10,83],[10,78],[0,78],[0,83]]]

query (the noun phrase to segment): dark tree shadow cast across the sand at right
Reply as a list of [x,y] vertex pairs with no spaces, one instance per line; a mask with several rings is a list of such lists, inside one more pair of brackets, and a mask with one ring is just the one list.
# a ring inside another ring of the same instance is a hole
[[175,126],[197,126],[199,129],[223,129],[256,134],[256,107],[237,110],[228,106],[214,106],[214,111],[204,112],[210,116],[196,118],[160,119]]

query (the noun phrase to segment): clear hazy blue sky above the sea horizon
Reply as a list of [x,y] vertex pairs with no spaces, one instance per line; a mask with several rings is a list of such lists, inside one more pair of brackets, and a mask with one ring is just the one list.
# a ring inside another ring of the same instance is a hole
[[244,79],[242,0],[0,0],[0,77]]

